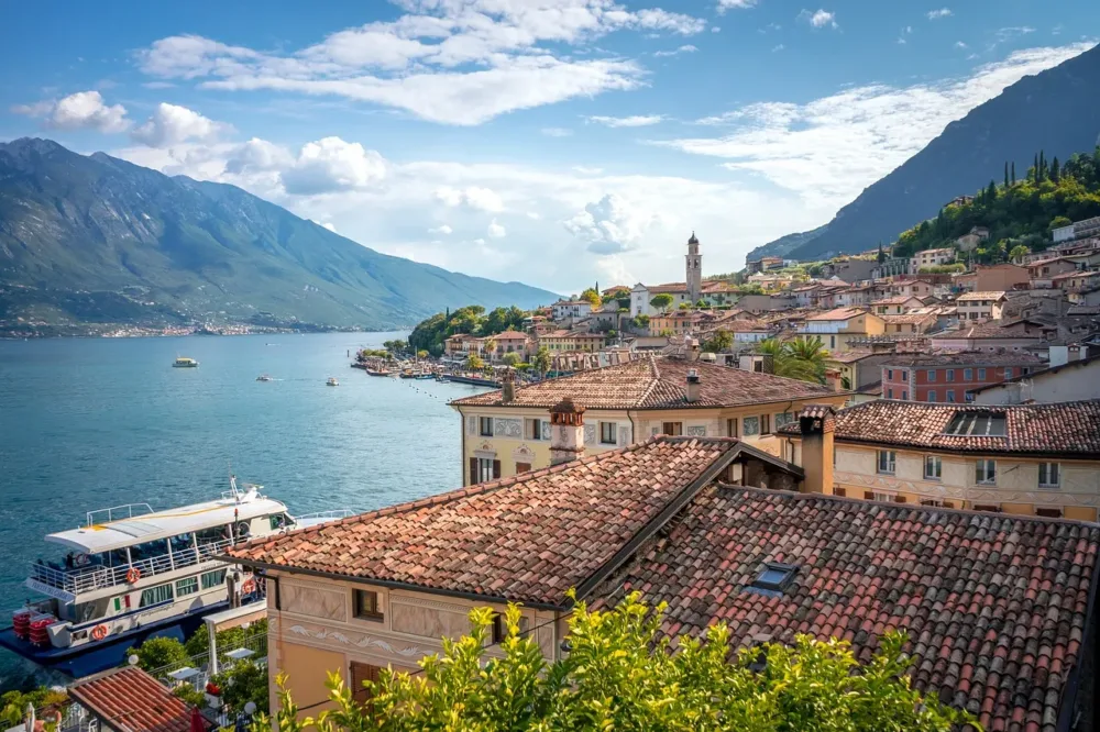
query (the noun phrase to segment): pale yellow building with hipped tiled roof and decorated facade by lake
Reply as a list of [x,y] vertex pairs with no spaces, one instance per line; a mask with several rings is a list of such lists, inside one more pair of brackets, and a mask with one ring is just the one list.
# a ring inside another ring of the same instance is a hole
[[550,408],[569,397],[585,409],[590,454],[652,435],[740,437],[774,450],[774,429],[811,401],[842,406],[827,387],[680,358],[647,357],[530,386],[457,399],[463,485],[550,465]]

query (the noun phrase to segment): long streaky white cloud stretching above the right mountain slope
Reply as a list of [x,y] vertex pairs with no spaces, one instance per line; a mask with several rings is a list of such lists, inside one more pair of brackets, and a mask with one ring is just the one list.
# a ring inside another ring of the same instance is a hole
[[653,144],[724,158],[733,171],[762,176],[810,204],[835,209],[917,153],[953,120],[1022,77],[1091,45],[1019,51],[967,78],[854,87],[804,104],[750,104],[698,120],[728,125],[726,134]]

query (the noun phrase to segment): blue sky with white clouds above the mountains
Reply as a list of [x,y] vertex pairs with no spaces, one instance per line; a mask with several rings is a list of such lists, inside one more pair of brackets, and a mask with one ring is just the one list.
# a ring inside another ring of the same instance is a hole
[[[558,292],[827,222],[1096,0],[46,2],[0,140],[240,186],[380,252]],[[966,191],[959,191],[966,192]]]

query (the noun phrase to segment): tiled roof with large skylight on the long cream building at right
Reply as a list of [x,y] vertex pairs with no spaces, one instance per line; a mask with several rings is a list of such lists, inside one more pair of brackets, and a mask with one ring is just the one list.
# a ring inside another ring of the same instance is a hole
[[[960,384],[959,386],[965,386]],[[1003,436],[945,434],[959,413],[1004,417]],[[1052,404],[930,404],[872,401],[836,413],[834,439],[967,453],[1100,457],[1100,400]],[[798,433],[785,424],[783,433]]]

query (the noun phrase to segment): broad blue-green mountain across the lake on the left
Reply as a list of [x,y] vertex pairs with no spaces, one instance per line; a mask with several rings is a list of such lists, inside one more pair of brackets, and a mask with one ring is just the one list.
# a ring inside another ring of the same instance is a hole
[[557,297],[380,254],[234,186],[48,140],[0,144],[0,325],[377,330]]

